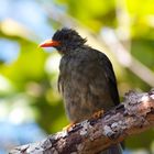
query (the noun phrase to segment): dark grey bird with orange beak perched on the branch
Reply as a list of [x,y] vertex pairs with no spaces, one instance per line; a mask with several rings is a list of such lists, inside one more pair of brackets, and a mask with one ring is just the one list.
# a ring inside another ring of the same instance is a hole
[[[62,28],[40,47],[54,47],[62,55],[58,90],[72,123],[90,119],[100,110],[108,111],[120,103],[117,78],[107,55],[87,45],[74,29]],[[121,154],[116,144],[99,154]]]

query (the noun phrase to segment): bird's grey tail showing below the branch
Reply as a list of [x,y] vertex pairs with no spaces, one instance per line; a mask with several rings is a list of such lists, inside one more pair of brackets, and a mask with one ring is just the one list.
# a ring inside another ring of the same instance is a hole
[[98,154],[122,154],[122,147],[120,144],[112,145],[108,150],[99,152]]

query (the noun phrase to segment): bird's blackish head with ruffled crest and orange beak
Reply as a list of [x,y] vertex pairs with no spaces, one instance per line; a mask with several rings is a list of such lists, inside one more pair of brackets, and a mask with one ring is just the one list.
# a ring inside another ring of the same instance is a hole
[[55,47],[61,54],[66,54],[85,43],[86,38],[82,38],[75,30],[65,28],[56,31],[52,40],[46,40],[40,44],[40,47]]

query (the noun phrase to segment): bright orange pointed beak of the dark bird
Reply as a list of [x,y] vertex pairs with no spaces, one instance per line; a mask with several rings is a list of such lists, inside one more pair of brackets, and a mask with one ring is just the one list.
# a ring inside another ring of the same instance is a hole
[[46,40],[45,42],[41,43],[38,47],[54,47],[58,45],[59,45],[58,41]]

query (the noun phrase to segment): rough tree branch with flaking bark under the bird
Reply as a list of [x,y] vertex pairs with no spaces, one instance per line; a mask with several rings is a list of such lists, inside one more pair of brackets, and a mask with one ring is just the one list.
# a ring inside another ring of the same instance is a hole
[[10,154],[94,154],[127,136],[154,127],[154,89],[125,94],[124,101],[99,118],[77,123],[68,131],[15,147]]

